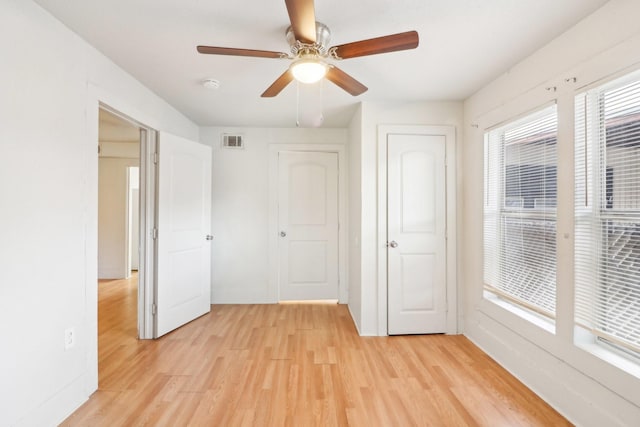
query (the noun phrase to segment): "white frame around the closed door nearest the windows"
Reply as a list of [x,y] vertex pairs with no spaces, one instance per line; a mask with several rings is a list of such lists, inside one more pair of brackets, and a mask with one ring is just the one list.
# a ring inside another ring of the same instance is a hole
[[447,334],[458,333],[457,287],[457,155],[454,126],[378,126],[378,335],[389,335],[388,328],[388,259],[387,259],[387,145],[389,134],[444,136],[445,142],[445,198],[446,198],[446,287]]

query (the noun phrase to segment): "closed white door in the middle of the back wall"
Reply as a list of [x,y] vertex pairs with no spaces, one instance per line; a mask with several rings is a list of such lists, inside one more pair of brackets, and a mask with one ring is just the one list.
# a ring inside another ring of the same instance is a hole
[[280,300],[337,300],[337,153],[279,153],[278,225]]

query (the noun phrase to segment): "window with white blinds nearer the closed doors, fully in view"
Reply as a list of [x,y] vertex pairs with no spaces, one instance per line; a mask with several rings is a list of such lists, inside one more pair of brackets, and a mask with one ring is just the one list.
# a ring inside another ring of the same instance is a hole
[[485,133],[484,283],[555,317],[555,104]]

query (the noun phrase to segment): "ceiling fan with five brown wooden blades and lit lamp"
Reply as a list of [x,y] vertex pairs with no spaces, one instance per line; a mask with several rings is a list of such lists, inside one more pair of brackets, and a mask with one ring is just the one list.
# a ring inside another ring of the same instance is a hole
[[327,62],[378,53],[415,49],[418,33],[404,33],[376,37],[329,47],[331,31],[326,25],[316,22],[313,0],[285,0],[291,26],[286,38],[291,53],[255,49],[235,49],[216,46],[198,46],[198,52],[209,55],[252,56],[258,58],[284,58],[293,62],[280,77],[261,95],[270,98],[278,95],[294,79],[302,83],[315,83],[322,78],[333,82],[353,96],[367,91],[367,87]]

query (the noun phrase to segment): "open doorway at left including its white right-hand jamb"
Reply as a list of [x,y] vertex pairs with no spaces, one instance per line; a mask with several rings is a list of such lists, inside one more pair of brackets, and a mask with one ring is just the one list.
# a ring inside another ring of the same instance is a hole
[[[155,152],[155,132],[103,104],[98,119],[98,350],[102,353],[103,332],[116,324],[127,339],[153,338],[154,246],[148,230],[155,224],[155,169],[148,157]],[[116,289],[120,289],[117,297]],[[116,303],[102,304],[105,295]],[[107,317],[110,320],[102,324]]]

